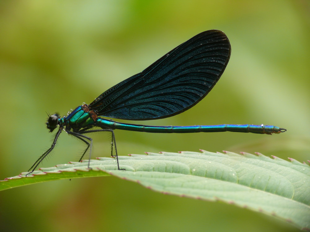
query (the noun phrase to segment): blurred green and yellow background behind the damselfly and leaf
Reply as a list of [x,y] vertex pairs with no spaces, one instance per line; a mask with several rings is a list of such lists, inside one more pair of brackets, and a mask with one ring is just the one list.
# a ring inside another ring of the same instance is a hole
[[[30,168],[51,145],[45,111],[65,115],[194,35],[219,29],[232,55],[195,107],[147,125],[269,124],[280,135],[115,131],[119,155],[261,152],[309,159],[310,4],[299,1],[0,1],[0,179]],[[121,120],[118,120],[121,121]],[[128,122],[128,121],[127,121]],[[138,122],[139,123],[139,122]],[[110,135],[93,157],[109,156]],[[85,145],[61,134],[41,167],[77,161]],[[2,231],[293,231],[219,202],[162,195],[115,177],[0,193]]]

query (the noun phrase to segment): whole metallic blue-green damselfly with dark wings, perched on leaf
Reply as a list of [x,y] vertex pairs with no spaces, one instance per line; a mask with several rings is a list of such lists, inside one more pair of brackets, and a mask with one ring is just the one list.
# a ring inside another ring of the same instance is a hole
[[[180,114],[196,105],[210,92],[223,74],[230,52],[230,43],[224,32],[218,30],[201,32],[171,50],[144,71],[108,89],[91,104],[80,105],[62,118],[58,114],[50,115],[46,123],[47,128],[52,132],[59,127],[55,139],[51,148],[42,154],[29,171],[33,172],[51,152],[63,130],[87,145],[80,161],[88,149],[91,156],[92,139],[85,135],[91,132],[111,132],[112,149],[114,144],[117,158],[114,135],[116,129],[152,133],[233,131],[269,135],[286,131],[283,128],[263,124],[146,126],[115,122],[100,117],[152,120]],[[100,129],[93,129],[94,127]],[[117,168],[120,170],[118,159]]]

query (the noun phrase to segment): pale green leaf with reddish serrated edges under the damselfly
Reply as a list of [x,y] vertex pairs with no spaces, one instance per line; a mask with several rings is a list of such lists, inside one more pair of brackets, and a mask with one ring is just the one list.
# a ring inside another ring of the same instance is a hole
[[[0,190],[56,179],[107,176],[140,183],[165,194],[223,201],[249,208],[310,230],[310,167],[294,159],[260,153],[148,153],[70,162],[42,168],[33,175],[7,178]],[[107,174],[108,173],[108,174]]]

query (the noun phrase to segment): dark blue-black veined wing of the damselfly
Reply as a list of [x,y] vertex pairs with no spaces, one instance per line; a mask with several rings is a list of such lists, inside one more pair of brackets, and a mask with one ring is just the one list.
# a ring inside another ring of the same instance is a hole
[[129,120],[167,118],[196,105],[213,88],[230,57],[224,32],[201,32],[93,101],[98,115]]

